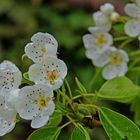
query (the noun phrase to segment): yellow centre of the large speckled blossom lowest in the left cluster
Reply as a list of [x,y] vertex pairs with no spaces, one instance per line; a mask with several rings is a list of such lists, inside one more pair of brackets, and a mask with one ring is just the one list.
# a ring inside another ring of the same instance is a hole
[[48,106],[48,103],[50,101],[50,98],[49,97],[39,97],[38,100],[37,100],[37,105],[41,108],[43,107],[47,107]]

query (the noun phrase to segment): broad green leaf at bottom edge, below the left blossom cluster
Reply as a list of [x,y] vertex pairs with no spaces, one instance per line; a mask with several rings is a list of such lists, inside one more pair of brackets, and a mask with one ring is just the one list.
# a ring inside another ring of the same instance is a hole
[[46,127],[34,131],[27,140],[57,140],[60,128]]

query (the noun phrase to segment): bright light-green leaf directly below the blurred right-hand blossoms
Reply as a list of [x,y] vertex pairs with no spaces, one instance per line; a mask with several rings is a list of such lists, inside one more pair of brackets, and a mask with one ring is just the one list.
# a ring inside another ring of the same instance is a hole
[[117,77],[104,83],[98,96],[122,103],[130,102],[140,93],[140,88],[126,77]]

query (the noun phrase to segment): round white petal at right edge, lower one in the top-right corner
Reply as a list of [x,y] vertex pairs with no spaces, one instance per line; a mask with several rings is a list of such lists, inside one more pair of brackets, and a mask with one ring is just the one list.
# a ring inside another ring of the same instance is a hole
[[136,20],[130,20],[125,24],[125,32],[131,37],[136,37],[140,34],[140,23]]

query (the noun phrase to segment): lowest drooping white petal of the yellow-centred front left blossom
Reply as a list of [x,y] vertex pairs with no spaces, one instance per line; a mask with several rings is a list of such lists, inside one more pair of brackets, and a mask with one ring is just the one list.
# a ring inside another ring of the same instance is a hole
[[42,126],[44,126],[49,120],[49,116],[37,116],[35,117],[32,122],[31,122],[31,127],[32,128],[40,128]]

